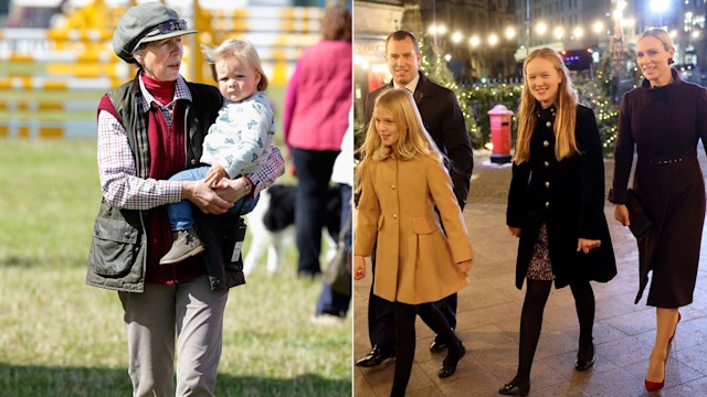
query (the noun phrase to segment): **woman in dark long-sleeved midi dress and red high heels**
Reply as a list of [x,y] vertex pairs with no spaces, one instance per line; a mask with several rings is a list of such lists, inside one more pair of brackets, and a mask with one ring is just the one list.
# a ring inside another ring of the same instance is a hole
[[675,47],[662,29],[650,29],[636,42],[645,79],[621,101],[613,189],[615,218],[631,222],[626,185],[639,153],[633,189],[653,221],[637,239],[640,288],[653,270],[647,304],[656,307],[655,344],[645,387],[663,388],[669,345],[679,321],[678,308],[693,302],[699,245],[705,221],[705,183],[697,162],[697,141],[707,138],[707,90],[683,82],[669,64]]

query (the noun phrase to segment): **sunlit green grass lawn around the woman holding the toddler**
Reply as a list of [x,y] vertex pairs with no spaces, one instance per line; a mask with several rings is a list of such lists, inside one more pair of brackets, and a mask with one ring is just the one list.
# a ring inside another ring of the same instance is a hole
[[[117,293],[84,283],[95,141],[0,140],[0,396],[129,396]],[[351,395],[350,318],[309,322],[321,282],[294,259],[231,290],[218,396]]]

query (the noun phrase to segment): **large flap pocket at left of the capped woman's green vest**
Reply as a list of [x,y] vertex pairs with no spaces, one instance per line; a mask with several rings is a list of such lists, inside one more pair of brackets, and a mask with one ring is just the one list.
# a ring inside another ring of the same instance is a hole
[[104,277],[127,275],[137,258],[140,233],[124,219],[97,217],[93,228],[89,266]]

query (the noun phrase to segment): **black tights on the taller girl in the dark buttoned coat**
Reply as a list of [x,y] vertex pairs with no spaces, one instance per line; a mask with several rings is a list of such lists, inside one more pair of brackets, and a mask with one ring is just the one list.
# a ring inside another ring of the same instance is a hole
[[[538,347],[542,329],[542,312],[550,296],[552,281],[527,279],[526,299],[520,314],[520,346],[518,348],[518,372],[511,380],[514,385],[530,383],[530,367]],[[594,292],[589,281],[571,283],[574,307],[579,318],[579,345],[592,343],[594,325]]]

